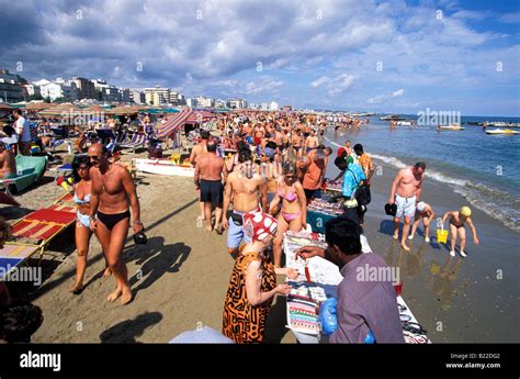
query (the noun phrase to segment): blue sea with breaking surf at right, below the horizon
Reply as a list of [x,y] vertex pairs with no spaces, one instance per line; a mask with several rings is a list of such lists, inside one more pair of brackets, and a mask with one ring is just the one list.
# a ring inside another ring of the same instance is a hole
[[472,205],[520,233],[520,134],[488,135],[482,126],[473,125],[486,121],[519,123],[520,118],[462,116],[465,130],[439,131],[436,125],[391,130],[377,115],[370,116],[360,131],[335,133],[329,127],[326,142],[336,148],[347,140],[351,146],[361,143],[370,156],[396,168],[422,160],[427,178],[445,183]]

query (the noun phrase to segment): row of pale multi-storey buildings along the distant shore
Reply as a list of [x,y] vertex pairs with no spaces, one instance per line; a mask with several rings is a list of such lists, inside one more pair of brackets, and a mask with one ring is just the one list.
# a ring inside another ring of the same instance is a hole
[[205,96],[185,98],[178,90],[155,86],[150,88],[122,88],[101,79],[72,77],[70,79],[41,79],[27,81],[18,74],[0,69],[0,102],[16,103],[31,100],[48,102],[104,102],[147,104],[152,107],[255,109],[278,111],[274,102],[248,103],[245,99],[212,99]]

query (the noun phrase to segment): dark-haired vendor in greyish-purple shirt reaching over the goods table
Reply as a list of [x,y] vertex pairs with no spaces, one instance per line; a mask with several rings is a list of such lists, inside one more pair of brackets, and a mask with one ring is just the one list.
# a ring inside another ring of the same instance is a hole
[[[327,249],[306,246],[296,255],[304,259],[319,256],[340,268],[343,280],[338,286],[338,328],[329,341],[363,343],[372,332],[376,343],[404,343],[392,281],[372,280],[366,272],[387,270],[383,258],[361,252],[361,227],[353,221],[336,218],[328,221],[325,228]],[[360,272],[366,274],[366,280],[360,280]]]

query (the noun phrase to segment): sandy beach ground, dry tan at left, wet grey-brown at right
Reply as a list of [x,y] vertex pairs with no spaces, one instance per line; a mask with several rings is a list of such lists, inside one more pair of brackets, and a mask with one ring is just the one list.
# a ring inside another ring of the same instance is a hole
[[[132,156],[124,155],[123,159]],[[468,238],[467,258],[451,258],[445,246],[437,244],[436,238],[426,244],[420,232],[411,252],[406,253],[393,242],[391,219],[383,213],[396,169],[381,161],[375,164],[382,167],[382,175],[373,180],[365,234],[374,253],[389,266],[400,267],[403,297],[432,342],[516,342],[518,233],[474,209],[482,243],[475,246]],[[79,296],[68,292],[76,263],[70,228],[49,246],[49,253],[60,253],[64,261],[45,260],[45,281],[39,288],[29,288],[30,299],[42,308],[45,317],[33,342],[166,343],[203,325],[221,330],[234,263],[227,253],[226,234],[207,233],[196,222],[199,207],[191,178],[139,174],[136,182],[149,242],[135,245],[129,236],[124,250],[135,300],[126,306],[106,302],[114,282],[102,277],[104,258],[95,237],[89,253],[87,288]],[[54,183],[48,171],[42,185],[16,198],[22,208],[3,207],[0,211],[13,220],[52,203],[61,193],[64,190]],[[427,180],[422,199],[440,216],[465,203],[462,196],[434,180]],[[27,286],[9,286],[14,296],[27,291]],[[283,298],[273,305],[265,339],[295,342],[285,327]]]

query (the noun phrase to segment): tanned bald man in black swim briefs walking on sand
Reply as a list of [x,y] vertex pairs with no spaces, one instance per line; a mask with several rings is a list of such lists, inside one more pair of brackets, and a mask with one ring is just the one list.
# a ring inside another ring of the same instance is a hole
[[132,301],[132,291],[128,286],[128,270],[122,255],[131,224],[128,204],[134,214],[134,233],[144,228],[139,200],[131,174],[123,166],[110,163],[106,147],[93,144],[87,154],[92,163],[90,228],[95,232],[116,281],[115,290],[106,300],[114,302],[121,297],[121,303],[127,304]]

